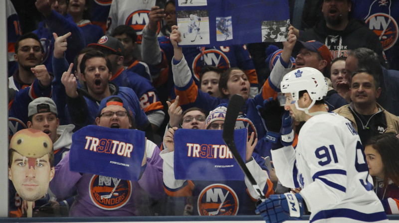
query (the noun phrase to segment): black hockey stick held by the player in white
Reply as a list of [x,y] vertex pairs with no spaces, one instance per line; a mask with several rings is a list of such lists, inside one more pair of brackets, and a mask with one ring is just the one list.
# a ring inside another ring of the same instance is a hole
[[259,185],[256,183],[256,180],[253,178],[251,172],[249,172],[248,168],[245,166],[244,161],[242,160],[240,154],[237,151],[237,147],[234,143],[234,126],[235,121],[237,120],[238,113],[241,110],[242,105],[244,104],[244,98],[240,95],[233,95],[230,99],[230,102],[227,106],[226,117],[224,118],[224,127],[223,127],[223,140],[226,143],[227,147],[230,149],[231,153],[234,156],[235,161],[237,161],[241,170],[244,172],[245,176],[251,182],[253,189],[258,194],[260,200],[263,202],[266,200],[265,195],[262,190],[260,190]]

